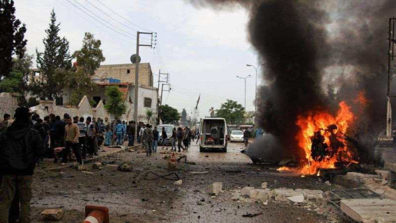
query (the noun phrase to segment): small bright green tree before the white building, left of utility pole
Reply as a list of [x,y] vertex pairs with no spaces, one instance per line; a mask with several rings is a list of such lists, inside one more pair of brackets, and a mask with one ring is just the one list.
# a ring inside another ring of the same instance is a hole
[[124,114],[127,110],[127,106],[125,105],[125,100],[122,99],[122,93],[118,86],[113,85],[106,87],[105,94],[107,96],[106,104],[104,105],[106,111],[110,114],[114,114],[115,118]]

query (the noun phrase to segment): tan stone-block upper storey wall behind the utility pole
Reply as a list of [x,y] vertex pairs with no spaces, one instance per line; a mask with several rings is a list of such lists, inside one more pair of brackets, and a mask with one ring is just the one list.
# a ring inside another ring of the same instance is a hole
[[[99,78],[100,74],[106,71],[107,78],[118,79],[122,83],[135,83],[135,67],[133,63],[100,65],[95,71],[95,77]],[[153,76],[150,63],[139,63],[139,85],[152,87],[152,83]]]

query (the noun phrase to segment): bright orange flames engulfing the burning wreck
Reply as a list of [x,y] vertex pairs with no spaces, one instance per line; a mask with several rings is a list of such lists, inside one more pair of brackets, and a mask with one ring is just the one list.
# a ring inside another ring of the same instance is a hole
[[[315,161],[311,157],[311,138],[314,132],[320,130],[320,133],[325,137],[324,143],[330,145],[330,135],[329,131],[326,131],[327,127],[331,124],[336,124],[338,129],[334,130],[335,133],[343,132],[345,133],[353,120],[353,113],[350,111],[350,107],[342,101],[340,104],[340,110],[337,112],[336,116],[333,116],[328,111],[310,111],[308,116],[299,115],[297,117],[296,124],[300,127],[297,132],[296,139],[298,141],[298,146],[302,148],[305,152],[305,166],[300,170],[301,174],[313,175],[317,173],[318,168],[335,168],[335,163],[338,159],[342,159],[343,162],[347,163],[357,163],[352,159],[352,153],[345,146],[344,148],[339,148],[336,154],[332,157],[326,157],[325,159]],[[344,139],[340,140],[347,145]]]

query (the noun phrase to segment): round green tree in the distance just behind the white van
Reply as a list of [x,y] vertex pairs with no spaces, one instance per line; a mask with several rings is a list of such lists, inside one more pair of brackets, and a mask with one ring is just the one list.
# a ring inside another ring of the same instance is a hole
[[227,99],[217,110],[217,116],[225,118],[229,124],[242,124],[245,122],[245,108],[238,102]]

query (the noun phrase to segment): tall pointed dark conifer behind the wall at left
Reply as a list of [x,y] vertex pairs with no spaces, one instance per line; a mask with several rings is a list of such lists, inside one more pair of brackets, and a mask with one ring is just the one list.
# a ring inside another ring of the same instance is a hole
[[69,53],[69,42],[65,37],[58,36],[60,23],[56,23],[55,12],[51,11],[51,22],[46,30],[47,38],[43,39],[44,53],[36,49],[37,67],[40,68],[40,79],[33,80],[32,93],[53,100],[60,96],[61,89],[56,84],[55,69],[69,70],[71,68],[71,56]]

